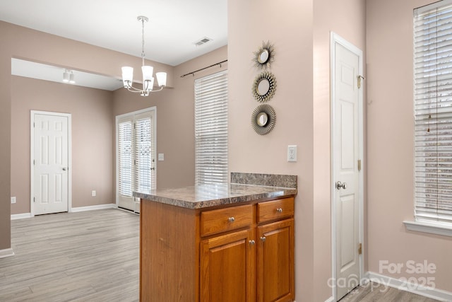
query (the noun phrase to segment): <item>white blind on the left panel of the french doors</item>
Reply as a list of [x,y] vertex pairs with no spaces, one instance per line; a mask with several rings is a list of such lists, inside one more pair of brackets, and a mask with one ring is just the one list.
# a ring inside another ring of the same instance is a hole
[[119,194],[132,196],[132,122],[118,124],[118,185]]

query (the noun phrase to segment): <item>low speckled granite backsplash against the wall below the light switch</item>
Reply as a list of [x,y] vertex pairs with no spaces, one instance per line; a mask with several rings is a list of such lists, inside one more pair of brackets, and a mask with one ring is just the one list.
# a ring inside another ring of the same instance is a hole
[[297,188],[297,175],[231,173],[231,183]]

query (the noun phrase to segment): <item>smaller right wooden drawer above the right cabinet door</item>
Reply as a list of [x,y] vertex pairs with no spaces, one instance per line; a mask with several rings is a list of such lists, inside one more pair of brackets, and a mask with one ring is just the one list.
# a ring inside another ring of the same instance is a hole
[[294,214],[294,198],[259,202],[257,204],[257,222],[271,221]]

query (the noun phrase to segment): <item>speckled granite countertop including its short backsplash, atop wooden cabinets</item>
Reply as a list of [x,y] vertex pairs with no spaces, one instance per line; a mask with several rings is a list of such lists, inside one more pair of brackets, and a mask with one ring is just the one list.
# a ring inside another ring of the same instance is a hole
[[[231,173],[231,180],[239,183],[195,185],[174,189],[133,192],[134,197],[172,204],[188,209],[203,209],[224,204],[271,199],[297,194],[297,178],[292,175]],[[286,178],[290,176],[291,178]],[[289,179],[290,181],[287,181]],[[294,181],[295,179],[295,181]],[[272,182],[274,185],[269,185]],[[290,185],[283,187],[280,185]]]

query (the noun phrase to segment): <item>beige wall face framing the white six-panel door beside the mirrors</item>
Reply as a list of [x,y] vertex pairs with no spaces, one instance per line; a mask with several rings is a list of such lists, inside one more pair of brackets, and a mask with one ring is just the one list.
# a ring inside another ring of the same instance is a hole
[[365,62],[365,1],[314,1],[314,301],[331,296],[331,32],[362,50]]

